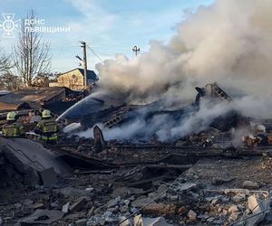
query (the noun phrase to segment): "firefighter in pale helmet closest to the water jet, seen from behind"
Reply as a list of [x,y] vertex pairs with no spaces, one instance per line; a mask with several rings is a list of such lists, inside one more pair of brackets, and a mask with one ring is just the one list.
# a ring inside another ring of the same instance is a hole
[[44,109],[42,120],[37,124],[34,132],[40,135],[45,143],[56,144],[59,129],[57,122],[51,116],[50,110]]

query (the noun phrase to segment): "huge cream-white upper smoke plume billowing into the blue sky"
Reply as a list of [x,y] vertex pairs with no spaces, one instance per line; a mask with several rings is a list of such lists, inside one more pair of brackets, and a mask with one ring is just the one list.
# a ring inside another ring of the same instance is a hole
[[219,0],[200,7],[180,24],[166,45],[151,41],[149,52],[117,55],[97,65],[100,85],[129,100],[161,95],[191,99],[192,87],[218,81],[248,94],[271,95],[271,0]]

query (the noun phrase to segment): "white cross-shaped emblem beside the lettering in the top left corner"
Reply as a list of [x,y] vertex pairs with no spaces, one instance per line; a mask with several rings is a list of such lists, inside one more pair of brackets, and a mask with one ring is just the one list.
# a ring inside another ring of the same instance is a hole
[[0,30],[3,30],[4,33],[2,37],[13,38],[15,37],[15,31],[18,31],[20,28],[21,21],[14,20],[15,14],[2,14],[4,21],[0,21]]

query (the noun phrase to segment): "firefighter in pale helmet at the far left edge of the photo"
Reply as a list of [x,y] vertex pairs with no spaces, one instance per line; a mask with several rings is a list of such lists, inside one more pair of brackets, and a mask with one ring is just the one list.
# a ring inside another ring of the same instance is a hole
[[11,111],[6,115],[7,123],[2,127],[3,137],[22,137],[24,135],[24,127],[17,122],[17,114]]

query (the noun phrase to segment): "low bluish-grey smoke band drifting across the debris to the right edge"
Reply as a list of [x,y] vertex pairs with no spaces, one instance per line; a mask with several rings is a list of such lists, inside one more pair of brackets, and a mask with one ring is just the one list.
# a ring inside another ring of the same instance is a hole
[[[186,137],[191,134],[209,129],[210,124],[215,118],[224,116],[231,110],[236,110],[243,116],[250,118],[272,118],[272,101],[268,99],[260,99],[257,97],[243,97],[234,99],[231,102],[209,99],[202,99],[199,110],[187,108],[183,112],[182,117],[175,118],[173,114],[159,114],[147,121],[144,119],[149,110],[140,110],[137,118],[129,121],[121,127],[106,128],[102,124],[98,125],[102,128],[105,139],[131,140],[139,142],[141,140],[150,140],[156,136],[162,142],[170,142],[180,137]],[[181,114],[181,113],[180,113]],[[181,116],[181,115],[180,115]],[[238,145],[243,135],[249,134],[246,128],[239,128],[233,134],[233,144]],[[87,131],[78,133],[81,137],[92,137],[92,128]]]

